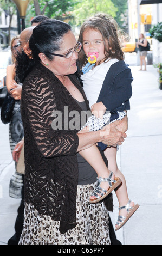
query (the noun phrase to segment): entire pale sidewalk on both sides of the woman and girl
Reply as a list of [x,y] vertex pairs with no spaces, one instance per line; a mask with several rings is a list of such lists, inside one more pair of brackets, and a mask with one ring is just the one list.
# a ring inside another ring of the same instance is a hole
[[[128,131],[118,151],[118,165],[124,173],[129,198],[140,208],[120,230],[123,245],[161,245],[162,237],[162,90],[158,88],[158,72],[152,65],[147,71],[130,66],[134,81]],[[10,154],[8,125],[0,123],[0,245],[14,235],[14,224],[20,199],[8,196],[9,180],[14,171]],[[113,225],[118,218],[118,202],[113,193]]]

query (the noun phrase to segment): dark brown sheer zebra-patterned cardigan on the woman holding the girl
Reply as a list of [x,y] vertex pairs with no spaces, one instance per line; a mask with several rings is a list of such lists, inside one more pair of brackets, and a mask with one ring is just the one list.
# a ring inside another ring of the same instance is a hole
[[[82,93],[89,109],[76,76],[69,75],[69,78]],[[25,78],[21,97],[25,143],[24,200],[34,205],[40,214],[49,215],[69,228],[69,224],[76,225],[76,151],[79,144],[76,133],[81,127],[78,130],[53,129],[54,111],[62,113],[62,125],[67,129],[65,106],[69,112],[81,113],[79,105],[53,72],[39,64]]]

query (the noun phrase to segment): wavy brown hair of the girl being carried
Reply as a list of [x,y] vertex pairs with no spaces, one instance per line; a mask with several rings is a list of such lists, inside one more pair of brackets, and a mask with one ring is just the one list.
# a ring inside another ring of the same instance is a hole
[[[99,13],[83,22],[80,28],[79,42],[83,43],[83,32],[87,29],[94,29],[101,33],[105,45],[105,60],[108,58],[124,59],[124,52],[120,46],[120,38],[122,38],[124,33],[120,31],[118,24],[111,16]],[[106,47],[106,40],[108,41],[108,47],[111,47],[111,49]],[[79,52],[80,68],[86,65],[87,62],[88,60],[82,47]]]

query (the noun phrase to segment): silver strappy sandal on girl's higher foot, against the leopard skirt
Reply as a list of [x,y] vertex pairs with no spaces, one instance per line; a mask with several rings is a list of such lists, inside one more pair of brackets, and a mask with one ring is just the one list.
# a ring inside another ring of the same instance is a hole
[[[120,178],[115,177],[115,179],[111,179],[112,178],[113,173],[111,172],[111,174],[109,175],[108,178],[97,178],[97,185],[96,185],[96,189],[95,191],[92,193],[92,195],[90,197],[95,196],[96,199],[89,199],[89,203],[98,203],[100,202],[103,198],[107,197],[109,193],[111,193],[116,187],[118,187],[121,183]],[[102,181],[107,181],[109,184],[109,189],[105,190],[104,188],[100,187],[100,184]]]

